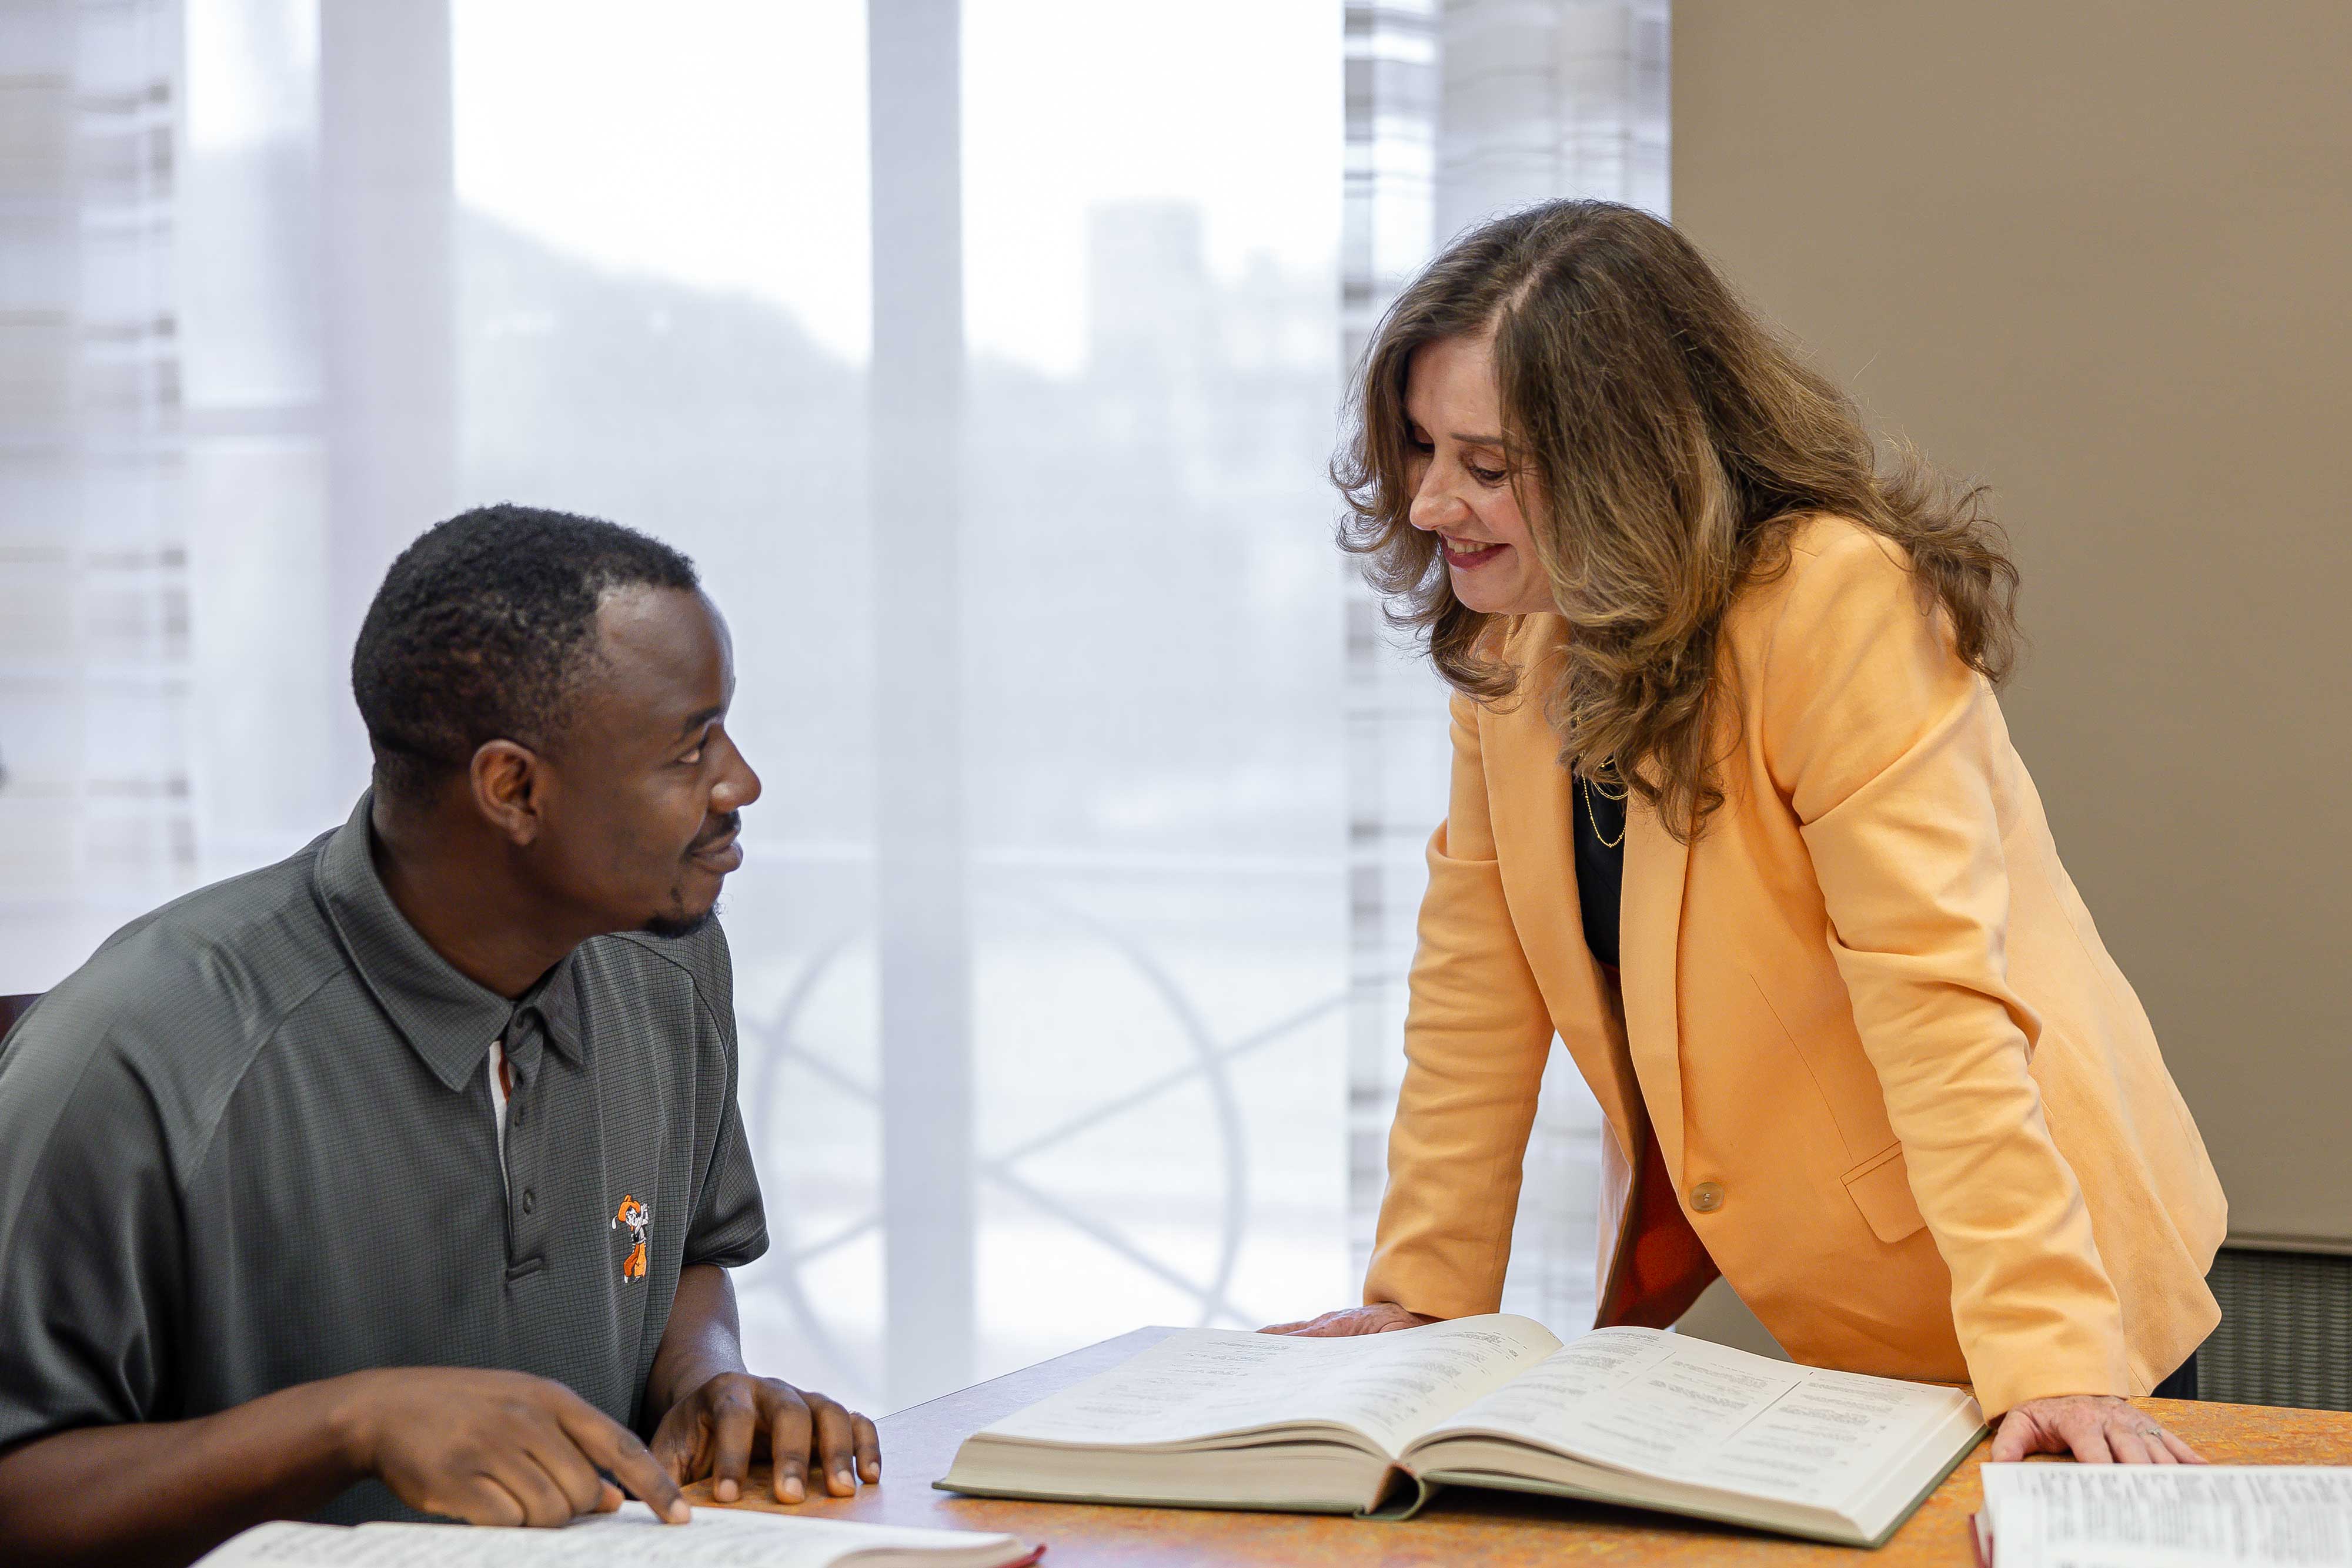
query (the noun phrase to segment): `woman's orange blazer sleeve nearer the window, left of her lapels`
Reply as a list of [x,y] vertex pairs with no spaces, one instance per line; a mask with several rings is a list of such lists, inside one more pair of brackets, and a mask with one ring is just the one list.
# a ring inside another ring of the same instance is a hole
[[1550,1044],[1552,1020],[1503,903],[1477,708],[1456,696],[1454,785],[1430,837],[1367,1302],[1428,1316],[1501,1305]]

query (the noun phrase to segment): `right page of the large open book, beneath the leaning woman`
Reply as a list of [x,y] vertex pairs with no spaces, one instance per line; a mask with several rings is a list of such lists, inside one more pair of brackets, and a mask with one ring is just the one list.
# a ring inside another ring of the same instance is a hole
[[1837,1507],[1962,1403],[1959,1389],[1602,1328],[1430,1436],[1479,1427],[1670,1481]]

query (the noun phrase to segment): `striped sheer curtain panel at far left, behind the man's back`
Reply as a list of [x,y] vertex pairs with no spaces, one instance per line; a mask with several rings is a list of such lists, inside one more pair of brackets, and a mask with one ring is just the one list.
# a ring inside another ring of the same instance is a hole
[[195,875],[179,7],[14,5],[0,45],[0,950],[28,976],[0,990],[33,990]]

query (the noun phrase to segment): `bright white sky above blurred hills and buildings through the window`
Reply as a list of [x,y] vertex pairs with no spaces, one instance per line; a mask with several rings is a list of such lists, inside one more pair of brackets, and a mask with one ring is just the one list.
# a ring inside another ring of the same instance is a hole
[[[621,0],[506,0],[452,19],[463,205],[600,266],[769,299],[837,357],[866,360],[861,0],[691,0],[659,26]],[[1148,7],[967,0],[974,355],[1084,374],[1080,259],[1105,200],[1195,205],[1207,266],[1228,282],[1263,263],[1329,275],[1338,21],[1336,5],[1263,0],[1202,0],[1181,26]],[[1209,82],[1249,113],[1202,113]],[[734,148],[788,148],[788,172],[746,181]]]

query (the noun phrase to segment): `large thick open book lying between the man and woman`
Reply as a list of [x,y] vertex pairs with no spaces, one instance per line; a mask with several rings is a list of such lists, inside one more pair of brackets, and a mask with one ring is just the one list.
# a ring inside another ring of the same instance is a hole
[[1442,1483],[1501,1486],[1875,1547],[1980,1434],[1962,1389],[1653,1328],[1188,1328],[971,1434],[938,1486],[1399,1519]]

